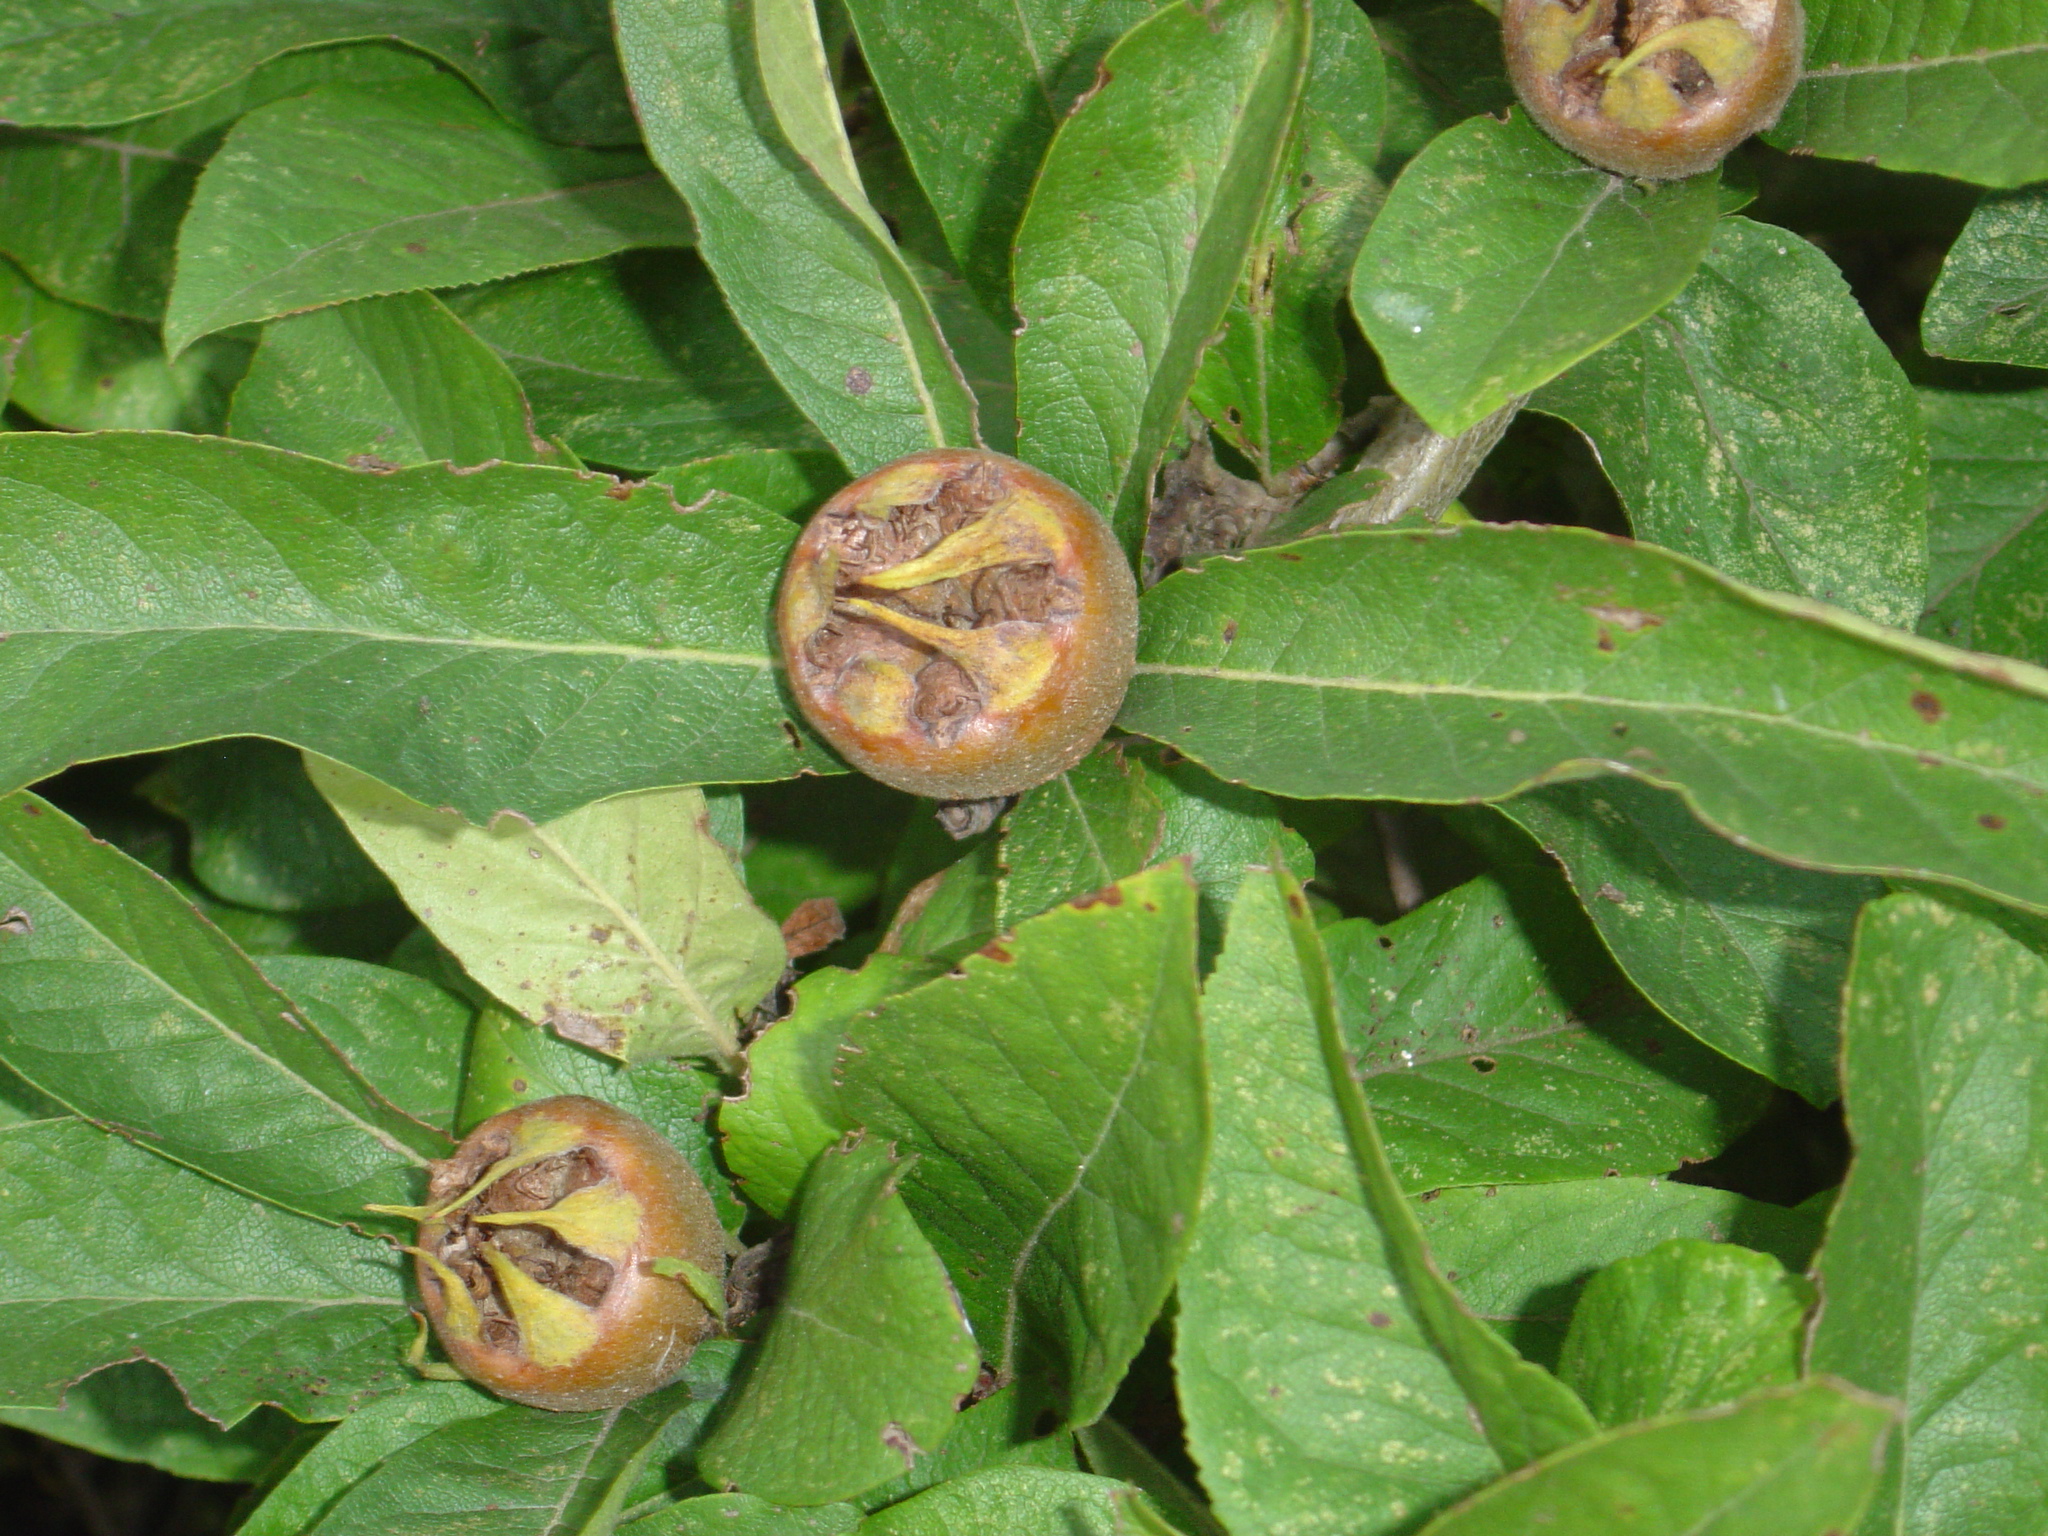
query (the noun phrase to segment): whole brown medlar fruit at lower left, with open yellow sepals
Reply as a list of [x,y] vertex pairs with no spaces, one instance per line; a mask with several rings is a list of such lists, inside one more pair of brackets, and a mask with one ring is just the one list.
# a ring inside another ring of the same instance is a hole
[[414,1270],[449,1360],[545,1409],[631,1403],[682,1374],[715,1321],[682,1257],[725,1274],[702,1182],[647,1122],[592,1098],[520,1104],[434,1163]]

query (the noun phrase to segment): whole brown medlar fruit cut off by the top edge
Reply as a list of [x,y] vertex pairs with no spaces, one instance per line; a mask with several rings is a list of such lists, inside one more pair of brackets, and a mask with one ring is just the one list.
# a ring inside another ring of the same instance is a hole
[[1507,0],[1507,76],[1552,139],[1602,170],[1712,170],[1798,84],[1798,0]]

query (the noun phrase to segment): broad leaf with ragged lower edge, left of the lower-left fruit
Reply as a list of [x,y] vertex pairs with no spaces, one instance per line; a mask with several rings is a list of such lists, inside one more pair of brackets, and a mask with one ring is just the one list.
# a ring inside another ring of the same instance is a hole
[[[147,1358],[219,1423],[336,1419],[406,1384],[393,1255],[80,1120],[0,1126],[0,1403]],[[414,1190],[414,1194],[418,1194]]]

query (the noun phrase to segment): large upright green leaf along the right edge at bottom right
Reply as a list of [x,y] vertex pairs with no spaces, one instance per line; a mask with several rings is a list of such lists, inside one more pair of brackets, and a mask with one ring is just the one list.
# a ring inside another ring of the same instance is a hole
[[1855,930],[1843,1026],[1855,1161],[1815,1264],[1808,1368],[1905,1401],[1860,1530],[2013,1530],[2048,1475],[2048,961],[1898,895]]

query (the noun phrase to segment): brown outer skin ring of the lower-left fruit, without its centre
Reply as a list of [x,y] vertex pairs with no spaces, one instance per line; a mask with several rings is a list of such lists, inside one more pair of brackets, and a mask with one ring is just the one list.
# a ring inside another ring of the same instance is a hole
[[[717,1321],[688,1284],[657,1276],[649,1266],[655,1257],[686,1257],[709,1276],[725,1274],[725,1233],[711,1194],[645,1120],[600,1100],[561,1096],[494,1114],[471,1130],[455,1157],[434,1163],[430,1206],[475,1184],[498,1157],[532,1137],[559,1139],[571,1151],[588,1153],[637,1206],[637,1231],[627,1251],[616,1255],[610,1288],[588,1309],[594,1341],[573,1360],[539,1364],[520,1348],[524,1339],[506,1348],[502,1339],[465,1329],[459,1317],[451,1317],[461,1307],[451,1309],[444,1278],[422,1255],[414,1274],[434,1335],[463,1376],[530,1407],[610,1409],[668,1386]],[[461,1221],[461,1210],[422,1221],[418,1247],[424,1253],[444,1251]]]

